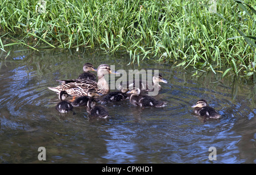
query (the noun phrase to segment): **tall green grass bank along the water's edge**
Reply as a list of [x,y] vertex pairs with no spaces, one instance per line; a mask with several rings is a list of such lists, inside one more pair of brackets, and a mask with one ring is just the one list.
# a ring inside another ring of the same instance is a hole
[[[237,29],[255,36],[256,14],[245,6],[249,16],[235,1],[213,2],[0,0],[1,35],[15,36],[0,46],[125,51],[130,62],[150,58],[215,73],[229,65],[223,75],[255,77],[255,48]],[[255,0],[245,2],[255,8]]]

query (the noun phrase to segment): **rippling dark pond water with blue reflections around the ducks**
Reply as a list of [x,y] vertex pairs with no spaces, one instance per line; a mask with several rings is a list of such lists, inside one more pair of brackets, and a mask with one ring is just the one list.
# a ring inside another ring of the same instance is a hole
[[[15,49],[13,49],[15,50]],[[129,63],[129,56],[86,50],[1,50],[1,163],[256,163],[255,84],[221,74],[173,67],[172,63]],[[85,107],[59,113],[59,99],[47,87],[73,79],[85,62],[115,70],[159,70],[168,84],[156,99],[164,108],[139,108],[129,100],[104,104],[109,119],[88,119]],[[220,81],[219,81],[220,80]],[[191,106],[205,99],[221,119],[193,116]],[[46,160],[38,160],[39,147]],[[216,159],[209,160],[210,147]]]

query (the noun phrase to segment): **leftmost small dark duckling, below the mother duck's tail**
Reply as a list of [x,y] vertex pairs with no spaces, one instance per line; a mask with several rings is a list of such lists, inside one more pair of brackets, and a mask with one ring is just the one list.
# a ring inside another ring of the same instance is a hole
[[55,106],[55,109],[60,113],[67,113],[73,110],[72,104],[69,101],[65,100],[67,97],[68,97],[67,92],[65,91],[60,92],[59,94],[60,102],[57,103],[57,105]]

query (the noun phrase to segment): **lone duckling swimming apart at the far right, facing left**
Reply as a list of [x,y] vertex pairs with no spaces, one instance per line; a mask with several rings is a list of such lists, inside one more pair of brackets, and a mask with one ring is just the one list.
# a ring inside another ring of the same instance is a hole
[[208,106],[207,101],[202,99],[197,101],[196,105],[191,106],[194,109],[194,113],[202,116],[202,117],[209,117],[209,118],[220,118],[221,115],[217,113],[215,109]]

